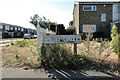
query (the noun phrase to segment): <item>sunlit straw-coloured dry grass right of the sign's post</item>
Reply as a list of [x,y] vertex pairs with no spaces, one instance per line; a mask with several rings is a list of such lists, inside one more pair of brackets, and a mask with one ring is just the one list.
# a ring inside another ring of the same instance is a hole
[[77,45],[78,54],[90,56],[95,60],[104,60],[111,63],[118,63],[118,56],[113,52],[110,46],[107,47],[106,49],[103,49],[102,52],[99,54],[99,47],[101,43],[92,42],[92,41],[90,43],[91,45],[90,45],[89,53],[86,52],[87,48],[83,43],[78,44]]

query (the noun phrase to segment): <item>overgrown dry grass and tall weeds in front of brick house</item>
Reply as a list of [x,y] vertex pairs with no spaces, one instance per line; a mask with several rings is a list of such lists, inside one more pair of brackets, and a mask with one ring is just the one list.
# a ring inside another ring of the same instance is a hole
[[83,54],[94,62],[93,67],[110,69],[120,73],[118,57],[113,53],[108,39],[93,39],[93,34],[86,34],[86,38],[78,45],[78,53]]

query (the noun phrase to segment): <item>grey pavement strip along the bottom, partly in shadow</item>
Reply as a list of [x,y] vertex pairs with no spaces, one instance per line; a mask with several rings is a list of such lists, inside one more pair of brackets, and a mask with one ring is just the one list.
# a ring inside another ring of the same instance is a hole
[[7,78],[28,78],[28,79],[57,79],[57,80],[120,80],[120,76],[116,76],[109,72],[97,70],[56,70],[49,69],[29,69],[22,68],[2,68],[2,79]]

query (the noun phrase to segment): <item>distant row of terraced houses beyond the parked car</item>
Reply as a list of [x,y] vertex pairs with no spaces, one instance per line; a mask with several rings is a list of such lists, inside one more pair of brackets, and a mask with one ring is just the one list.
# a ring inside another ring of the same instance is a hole
[[36,33],[36,30],[7,23],[0,23],[0,39],[22,38],[25,33],[34,34]]

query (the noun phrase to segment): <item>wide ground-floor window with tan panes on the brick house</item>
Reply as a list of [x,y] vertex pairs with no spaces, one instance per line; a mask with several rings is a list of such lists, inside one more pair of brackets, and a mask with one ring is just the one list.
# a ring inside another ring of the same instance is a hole
[[96,25],[89,25],[89,24],[84,24],[83,25],[83,32],[84,33],[94,33],[96,32]]

